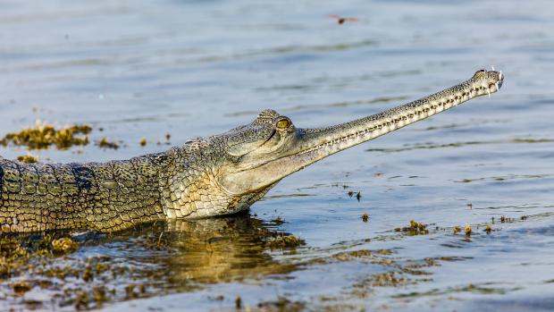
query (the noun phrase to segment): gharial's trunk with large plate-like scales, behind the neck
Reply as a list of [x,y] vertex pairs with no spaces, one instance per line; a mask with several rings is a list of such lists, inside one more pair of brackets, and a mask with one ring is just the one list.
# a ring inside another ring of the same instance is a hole
[[105,164],[0,159],[1,230],[117,231],[164,217],[158,173],[166,162],[164,154]]

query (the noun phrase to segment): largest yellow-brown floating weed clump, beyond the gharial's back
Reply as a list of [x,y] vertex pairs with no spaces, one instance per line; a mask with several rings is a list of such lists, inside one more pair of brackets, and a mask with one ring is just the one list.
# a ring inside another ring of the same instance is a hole
[[[0,144],[25,146],[29,149],[45,149],[54,145],[58,149],[88,145],[88,133],[92,128],[86,124],[75,124],[56,129],[49,123],[36,122],[34,128],[26,128],[17,133],[8,133]],[[83,136],[78,137],[81,134]]]

